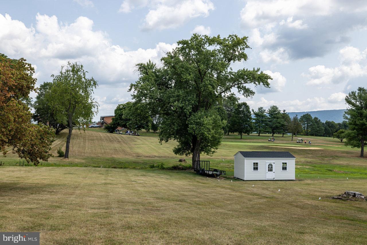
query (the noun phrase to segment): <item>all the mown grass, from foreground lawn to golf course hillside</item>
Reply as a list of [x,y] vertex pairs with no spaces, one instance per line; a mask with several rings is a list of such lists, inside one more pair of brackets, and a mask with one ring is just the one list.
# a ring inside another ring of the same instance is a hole
[[[57,136],[54,155],[66,134]],[[365,244],[367,202],[330,197],[367,193],[367,158],[333,138],[302,138],[313,144],[225,136],[217,153],[201,156],[228,171],[218,181],[150,169],[179,158],[190,164],[190,156],[172,153],[175,142],[161,145],[157,134],[74,131],[70,159],[27,167],[15,154],[0,156],[0,230],[40,231],[41,244]],[[235,180],[237,151],[290,151],[297,180]]]

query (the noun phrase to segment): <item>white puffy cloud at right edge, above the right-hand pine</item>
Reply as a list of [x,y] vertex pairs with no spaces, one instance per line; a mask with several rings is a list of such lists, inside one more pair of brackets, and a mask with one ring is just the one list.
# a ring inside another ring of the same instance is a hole
[[367,76],[366,53],[367,49],[361,52],[355,47],[344,47],[339,51],[339,66],[312,66],[308,69],[308,74],[302,73],[302,76],[308,78],[309,85],[338,84],[348,82],[352,78]]

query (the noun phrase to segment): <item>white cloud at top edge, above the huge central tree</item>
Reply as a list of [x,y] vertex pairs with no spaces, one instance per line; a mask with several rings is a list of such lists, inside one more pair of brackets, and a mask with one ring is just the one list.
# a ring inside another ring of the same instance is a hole
[[135,8],[148,7],[143,28],[176,28],[192,18],[207,17],[214,4],[210,0],[124,0],[118,12],[128,13]]

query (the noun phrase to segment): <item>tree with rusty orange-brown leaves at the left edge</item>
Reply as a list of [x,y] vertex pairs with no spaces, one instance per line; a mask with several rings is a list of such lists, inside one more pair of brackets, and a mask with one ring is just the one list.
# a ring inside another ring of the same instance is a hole
[[34,68],[25,59],[13,60],[0,54],[0,151],[7,147],[20,158],[34,165],[47,161],[54,133],[46,126],[31,123],[28,106],[30,91],[34,91]]

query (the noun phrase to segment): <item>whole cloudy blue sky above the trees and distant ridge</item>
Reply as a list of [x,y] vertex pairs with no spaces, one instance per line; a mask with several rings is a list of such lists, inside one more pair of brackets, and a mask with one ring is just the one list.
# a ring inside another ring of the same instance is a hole
[[[192,33],[247,36],[248,60],[270,89],[254,87],[251,108],[275,104],[289,112],[344,109],[345,95],[367,77],[367,1],[353,0],[34,0],[0,1],[0,53],[24,57],[36,86],[68,61],[98,80],[99,112],[131,100],[135,64],[160,64]],[[32,93],[31,97],[36,94]]]

